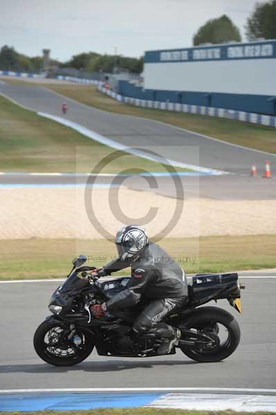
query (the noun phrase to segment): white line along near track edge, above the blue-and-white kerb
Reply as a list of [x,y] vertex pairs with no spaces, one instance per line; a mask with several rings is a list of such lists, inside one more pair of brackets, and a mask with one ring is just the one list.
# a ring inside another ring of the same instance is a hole
[[231,387],[85,387],[53,389],[1,389],[0,394],[29,394],[32,392],[163,392],[163,391],[206,391],[206,392],[248,392],[252,394],[276,394],[276,389],[250,389]]

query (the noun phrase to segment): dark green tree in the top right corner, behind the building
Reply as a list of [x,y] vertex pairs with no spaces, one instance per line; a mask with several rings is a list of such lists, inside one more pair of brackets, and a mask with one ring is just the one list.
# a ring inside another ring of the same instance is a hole
[[247,19],[246,37],[249,41],[260,37],[276,39],[276,0],[256,4]]

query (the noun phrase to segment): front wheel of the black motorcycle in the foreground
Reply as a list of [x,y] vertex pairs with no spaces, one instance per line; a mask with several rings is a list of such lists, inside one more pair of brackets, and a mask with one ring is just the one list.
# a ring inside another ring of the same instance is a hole
[[39,358],[54,366],[73,366],[86,359],[93,351],[93,335],[77,328],[73,338],[71,330],[62,322],[45,320],[35,331],[33,344]]

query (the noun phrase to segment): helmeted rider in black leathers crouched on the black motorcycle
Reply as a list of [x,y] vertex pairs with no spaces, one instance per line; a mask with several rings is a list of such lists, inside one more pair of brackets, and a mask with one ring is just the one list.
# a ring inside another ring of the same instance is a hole
[[149,304],[134,321],[134,333],[139,337],[149,333],[156,335],[162,340],[157,353],[170,353],[178,343],[181,332],[161,320],[187,302],[187,282],[183,270],[165,250],[148,240],[141,226],[127,225],[121,228],[116,234],[115,243],[118,258],[96,272],[103,277],[131,266],[131,279],[124,291],[104,304],[92,306],[93,315],[100,317],[107,312],[134,306],[141,297],[147,299]]

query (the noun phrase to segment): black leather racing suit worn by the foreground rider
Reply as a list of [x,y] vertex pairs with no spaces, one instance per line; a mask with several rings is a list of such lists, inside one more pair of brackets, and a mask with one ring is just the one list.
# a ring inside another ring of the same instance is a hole
[[172,327],[158,323],[187,302],[187,282],[183,270],[167,252],[151,242],[138,259],[122,261],[118,258],[103,269],[110,275],[128,266],[131,266],[131,279],[127,288],[107,301],[107,311],[112,313],[116,309],[134,306],[141,297],[148,299],[149,304],[134,322],[134,331],[142,334],[157,330],[160,336],[170,337],[174,333]]

